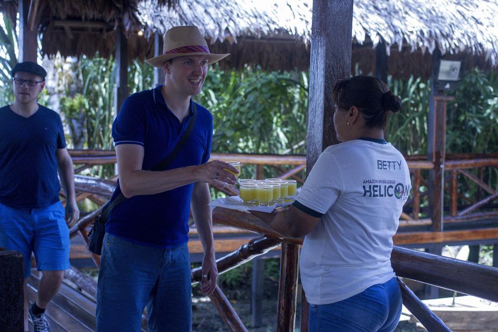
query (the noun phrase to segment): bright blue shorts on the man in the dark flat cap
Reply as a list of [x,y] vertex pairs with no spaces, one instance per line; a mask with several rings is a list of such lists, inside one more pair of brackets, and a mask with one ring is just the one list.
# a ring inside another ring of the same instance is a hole
[[24,257],[24,278],[31,274],[31,252],[39,271],[69,268],[69,229],[61,202],[31,212],[0,203],[0,247]]

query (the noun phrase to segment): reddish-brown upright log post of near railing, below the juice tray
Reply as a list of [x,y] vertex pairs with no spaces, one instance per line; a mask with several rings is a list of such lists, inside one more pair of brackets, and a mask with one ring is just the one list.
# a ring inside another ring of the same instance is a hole
[[296,319],[299,246],[282,242],[278,284],[277,332],[293,332]]

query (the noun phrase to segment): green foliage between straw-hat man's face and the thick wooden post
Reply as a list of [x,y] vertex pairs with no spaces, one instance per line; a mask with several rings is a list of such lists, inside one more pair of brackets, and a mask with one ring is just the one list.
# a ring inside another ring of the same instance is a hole
[[305,73],[240,72],[214,66],[196,98],[213,113],[213,151],[304,154],[308,110]]

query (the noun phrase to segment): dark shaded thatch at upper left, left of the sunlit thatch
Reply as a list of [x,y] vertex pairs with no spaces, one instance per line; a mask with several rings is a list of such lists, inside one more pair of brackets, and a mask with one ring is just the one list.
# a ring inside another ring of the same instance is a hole
[[[176,6],[179,0],[156,0],[164,8]],[[135,47],[148,45],[149,40],[137,38],[144,29],[139,19],[140,0],[36,0],[31,1],[30,23],[42,34],[42,52],[62,56],[114,54],[115,31],[119,25],[134,43],[130,56],[140,55]],[[18,0],[0,0],[0,11],[15,22]],[[142,40],[140,40],[142,39]],[[136,46],[135,46],[136,45]],[[143,52],[142,52],[143,53]]]

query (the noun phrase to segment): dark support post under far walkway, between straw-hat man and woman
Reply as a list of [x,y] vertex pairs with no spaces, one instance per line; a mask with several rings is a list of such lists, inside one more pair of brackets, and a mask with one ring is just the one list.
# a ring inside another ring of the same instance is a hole
[[252,282],[250,292],[250,325],[251,328],[263,326],[264,300],[264,259],[252,259]]

